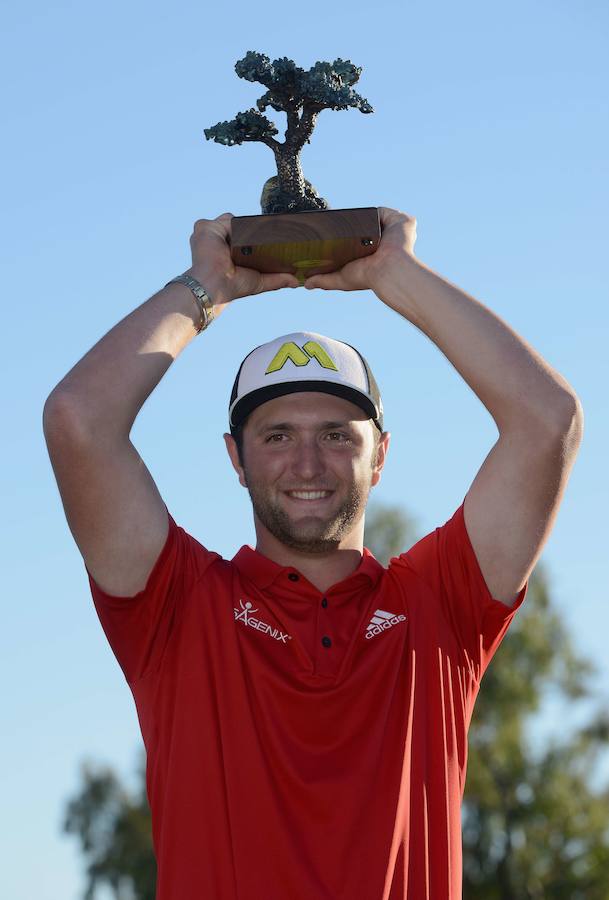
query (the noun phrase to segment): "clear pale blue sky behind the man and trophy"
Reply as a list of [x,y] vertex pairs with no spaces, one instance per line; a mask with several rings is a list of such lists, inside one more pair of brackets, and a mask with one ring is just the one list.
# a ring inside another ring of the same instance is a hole
[[[305,68],[337,57],[363,67],[357,89],[374,115],[322,113],[305,176],[334,208],[416,216],[418,258],[504,318],[579,394],[584,442],[542,560],[609,702],[609,10],[600,0],[340,10],[319,0],[35,0],[4,10],[7,900],[77,900],[82,864],[59,824],[78,766],[108,763],[131,783],[141,742],[65,522],[42,407],[104,333],[189,267],[196,219],[260,211],[268,148],[203,138],[262,94],[234,72],[250,49]],[[285,117],[269,113],[283,130]],[[132,439],[174,518],[225,556],[254,542],[222,440],[228,397],[252,347],[296,330],[346,340],[372,366],[392,433],[374,498],[402,503],[420,535],[445,522],[496,440],[490,415],[435,345],[373,294],[303,290],[236,301],[145,403]],[[565,713],[561,727],[570,721]]]

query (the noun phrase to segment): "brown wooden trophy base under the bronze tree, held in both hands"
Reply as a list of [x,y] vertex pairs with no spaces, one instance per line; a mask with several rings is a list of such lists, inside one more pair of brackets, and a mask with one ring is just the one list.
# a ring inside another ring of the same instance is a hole
[[310,275],[334,272],[351,260],[370,256],[380,240],[376,206],[234,216],[231,220],[231,257],[236,266],[289,272],[301,284]]

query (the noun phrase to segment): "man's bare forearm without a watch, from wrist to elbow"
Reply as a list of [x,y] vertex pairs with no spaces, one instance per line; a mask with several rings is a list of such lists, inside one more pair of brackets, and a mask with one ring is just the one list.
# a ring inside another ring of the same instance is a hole
[[375,292],[436,344],[500,432],[569,420],[576,395],[568,381],[499,316],[414,256],[392,267]]

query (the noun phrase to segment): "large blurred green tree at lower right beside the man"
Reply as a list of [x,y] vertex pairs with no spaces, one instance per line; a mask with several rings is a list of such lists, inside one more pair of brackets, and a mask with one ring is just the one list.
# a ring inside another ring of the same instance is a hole
[[541,754],[527,738],[544,698],[591,698],[595,672],[576,655],[538,565],[482,679],[470,727],[462,817],[468,900],[609,898],[609,789],[590,783],[607,748],[607,710],[562,741],[548,739]]

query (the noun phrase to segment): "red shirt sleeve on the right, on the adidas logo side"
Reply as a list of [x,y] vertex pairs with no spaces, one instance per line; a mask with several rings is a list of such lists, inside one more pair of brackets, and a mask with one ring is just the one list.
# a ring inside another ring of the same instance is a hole
[[431,589],[459,645],[476,661],[481,678],[522,605],[529,582],[512,606],[491,595],[465,526],[464,502],[444,525],[399,559]]

